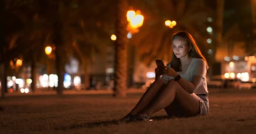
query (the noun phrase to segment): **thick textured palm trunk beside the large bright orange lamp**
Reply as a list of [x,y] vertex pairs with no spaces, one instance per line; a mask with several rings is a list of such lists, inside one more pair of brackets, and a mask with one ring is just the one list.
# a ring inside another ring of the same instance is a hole
[[117,0],[116,11],[116,36],[115,41],[115,94],[116,97],[125,97],[127,90],[127,43],[126,35],[126,12],[128,7],[127,0]]

